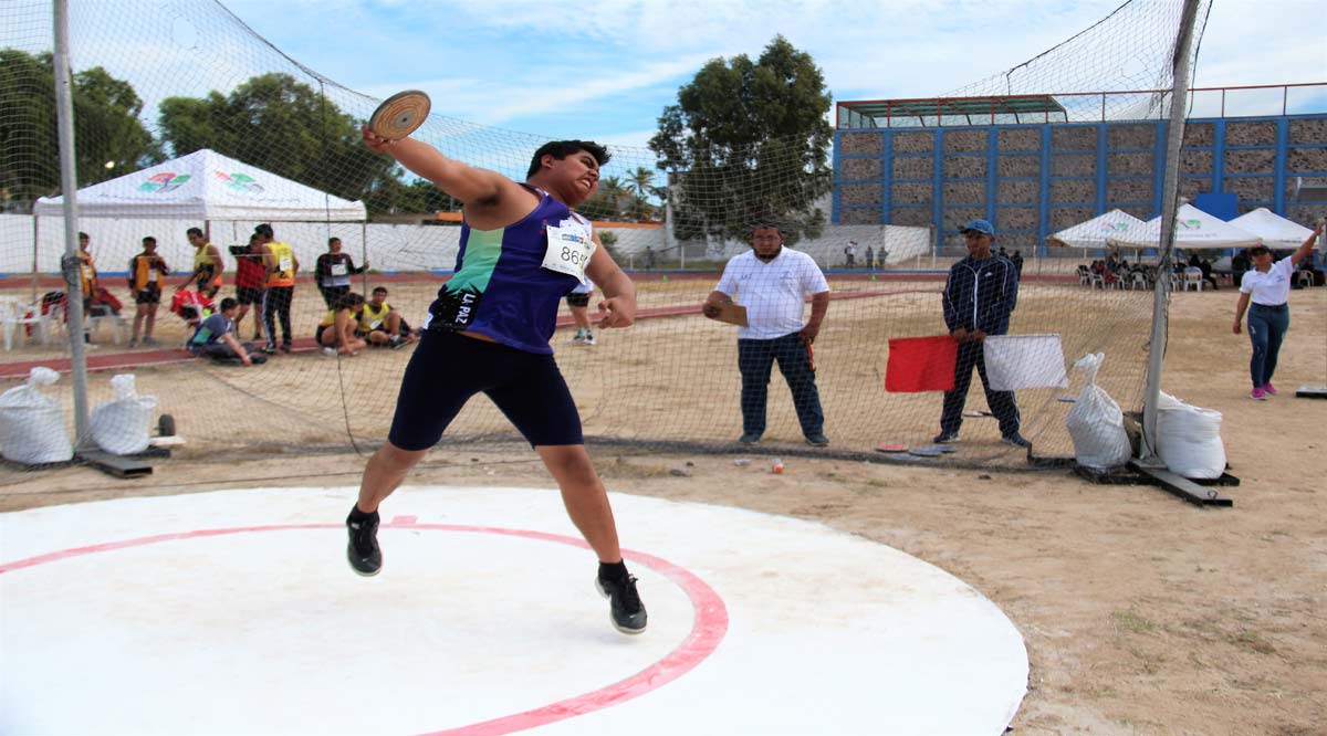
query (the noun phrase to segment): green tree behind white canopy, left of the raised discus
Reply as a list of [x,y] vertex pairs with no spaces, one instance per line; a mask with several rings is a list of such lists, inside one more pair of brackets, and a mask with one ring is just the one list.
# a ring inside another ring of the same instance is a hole
[[386,211],[397,206],[386,194],[410,187],[391,174],[389,158],[364,146],[360,125],[318,90],[280,73],[252,77],[228,95],[214,90],[161,105],[162,139],[175,155],[212,149],[344,199],[374,192],[370,210]]

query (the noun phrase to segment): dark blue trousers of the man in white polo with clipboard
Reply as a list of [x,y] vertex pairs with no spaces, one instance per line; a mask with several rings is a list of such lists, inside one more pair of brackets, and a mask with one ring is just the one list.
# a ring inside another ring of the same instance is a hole
[[792,406],[798,410],[802,434],[819,435],[825,418],[816,390],[816,373],[811,367],[811,353],[799,333],[774,339],[739,339],[738,370],[742,373],[742,431],[748,435],[764,434],[764,408],[770,395],[770,373],[779,361],[779,373],[792,391]]

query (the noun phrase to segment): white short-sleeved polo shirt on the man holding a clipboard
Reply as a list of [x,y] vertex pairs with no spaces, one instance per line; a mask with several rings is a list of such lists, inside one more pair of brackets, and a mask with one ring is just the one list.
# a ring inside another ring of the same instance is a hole
[[748,326],[738,328],[739,338],[774,339],[802,330],[805,294],[823,294],[829,282],[811,256],[784,247],[770,263],[755,251],[734,256],[715,290],[736,294],[747,309]]

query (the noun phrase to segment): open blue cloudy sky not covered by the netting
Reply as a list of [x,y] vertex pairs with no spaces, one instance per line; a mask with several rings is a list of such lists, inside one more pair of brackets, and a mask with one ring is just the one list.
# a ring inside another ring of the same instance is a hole
[[[620,146],[644,146],[706,61],[755,58],[775,34],[815,58],[835,101],[933,97],[1032,58],[1120,1],[222,0],[353,90],[421,89],[447,117]],[[1327,44],[1306,32],[1324,16],[1327,0],[1214,0],[1194,86],[1327,81]]]

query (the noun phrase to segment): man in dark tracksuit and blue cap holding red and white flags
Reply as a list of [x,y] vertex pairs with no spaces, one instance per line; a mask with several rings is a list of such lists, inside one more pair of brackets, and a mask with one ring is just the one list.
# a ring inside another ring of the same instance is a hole
[[949,269],[945,282],[945,325],[958,341],[958,363],[954,366],[954,390],[945,393],[945,410],[940,416],[937,443],[958,442],[963,423],[963,403],[973,382],[973,366],[986,389],[986,403],[999,420],[1002,442],[1016,447],[1032,443],[1018,434],[1018,404],[1014,391],[991,391],[986,378],[982,341],[990,334],[1009,332],[1009,316],[1018,305],[1018,269],[1005,256],[991,255],[995,228],[986,220],[963,225],[967,257]]

